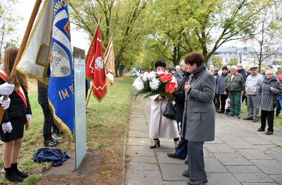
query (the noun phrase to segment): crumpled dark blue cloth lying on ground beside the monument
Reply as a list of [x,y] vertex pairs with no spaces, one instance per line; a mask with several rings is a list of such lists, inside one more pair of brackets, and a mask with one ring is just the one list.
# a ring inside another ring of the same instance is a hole
[[67,153],[63,154],[60,149],[41,148],[36,151],[33,160],[35,162],[51,162],[54,166],[60,166],[69,158]]

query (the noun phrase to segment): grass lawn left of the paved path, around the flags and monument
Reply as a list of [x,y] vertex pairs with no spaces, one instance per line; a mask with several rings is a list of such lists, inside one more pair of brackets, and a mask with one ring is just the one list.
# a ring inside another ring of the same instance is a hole
[[[22,185],[33,185],[40,180],[40,173],[43,169],[48,169],[51,163],[36,163],[33,161],[35,152],[43,147],[42,125],[43,114],[41,106],[37,101],[36,82],[30,85],[32,92],[29,98],[32,107],[32,122],[30,129],[24,133],[24,141],[18,157],[19,168],[33,174],[23,183],[13,183]],[[99,150],[102,157],[99,166],[99,174],[95,181],[102,185],[116,181],[120,184],[122,176],[122,156],[124,147],[124,137],[126,128],[129,126],[129,108],[131,102],[132,76],[130,74],[115,79],[112,87],[107,84],[107,94],[99,103],[93,96],[90,97],[87,110],[87,147],[88,150]],[[35,86],[35,87],[34,87]],[[68,139],[63,137],[58,147],[63,151],[74,149],[74,139],[68,143]],[[0,142],[0,155],[2,155],[3,143]],[[4,179],[3,161],[0,159],[0,184],[7,184]],[[109,178],[111,177],[111,178]],[[103,183],[102,183],[103,182]]]

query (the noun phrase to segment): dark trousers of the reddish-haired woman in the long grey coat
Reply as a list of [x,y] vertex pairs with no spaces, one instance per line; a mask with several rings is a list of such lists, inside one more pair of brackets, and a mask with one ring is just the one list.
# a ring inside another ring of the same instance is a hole
[[205,171],[204,162],[204,142],[188,141],[188,172],[191,180],[206,179],[207,173]]

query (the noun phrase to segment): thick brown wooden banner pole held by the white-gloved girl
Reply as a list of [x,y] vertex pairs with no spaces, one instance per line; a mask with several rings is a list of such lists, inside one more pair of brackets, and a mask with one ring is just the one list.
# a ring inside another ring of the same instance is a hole
[[[24,37],[23,37],[23,40],[22,40],[22,43],[20,45],[20,48],[19,48],[19,51],[18,51],[18,54],[17,54],[17,57],[16,57],[16,60],[14,62],[14,65],[13,65],[13,69],[11,71],[11,74],[10,74],[10,77],[9,77],[9,81],[8,83],[9,84],[13,84],[14,83],[14,80],[15,80],[15,70],[16,70],[16,66],[17,64],[19,63],[21,57],[22,57],[22,54],[24,52],[24,49],[27,45],[27,42],[28,42],[28,38],[30,36],[30,33],[32,31],[32,28],[33,28],[33,24],[35,22],[35,18],[36,18],[36,14],[39,10],[39,7],[40,7],[40,4],[41,4],[41,0],[36,0],[35,1],[35,5],[34,5],[34,8],[33,8],[33,11],[32,11],[32,14],[31,14],[31,17],[30,17],[30,20],[29,20],[29,23],[28,23],[28,26],[26,28],[26,31],[25,31],[25,34],[24,34]],[[5,95],[3,97],[3,101],[8,99],[9,95]],[[1,106],[0,107],[0,120],[2,120],[3,118],[3,114],[4,114],[4,109],[3,107]]]

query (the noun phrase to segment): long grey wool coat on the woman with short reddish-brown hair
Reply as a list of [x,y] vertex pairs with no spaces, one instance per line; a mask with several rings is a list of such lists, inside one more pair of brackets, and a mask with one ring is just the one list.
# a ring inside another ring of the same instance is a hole
[[215,108],[213,97],[215,79],[205,64],[192,71],[190,92],[185,91],[181,137],[193,142],[214,140]]

